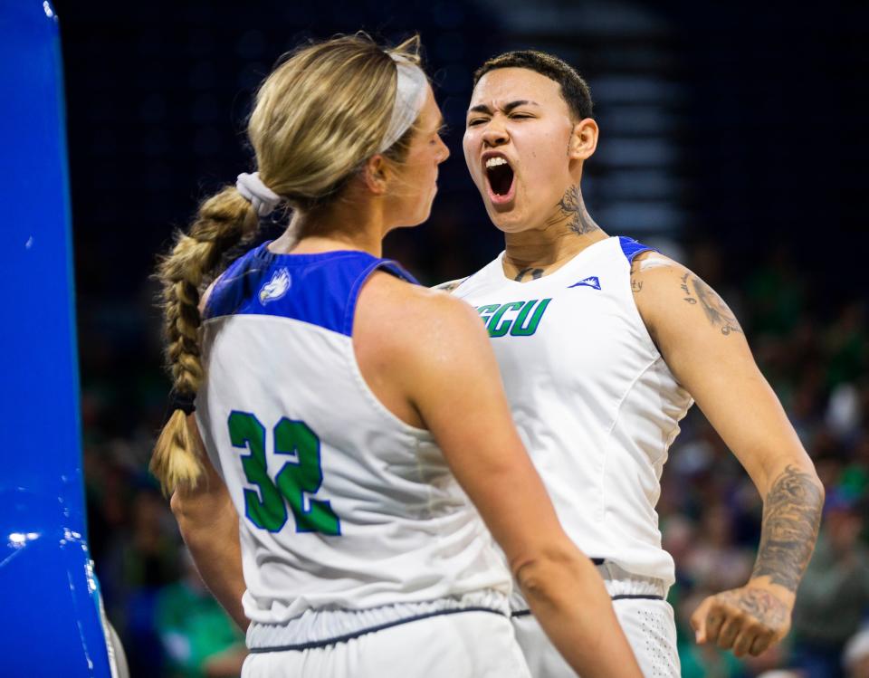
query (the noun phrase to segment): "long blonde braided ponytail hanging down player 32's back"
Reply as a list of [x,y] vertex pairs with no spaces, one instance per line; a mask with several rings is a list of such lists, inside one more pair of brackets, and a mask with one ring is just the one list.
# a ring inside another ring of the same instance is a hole
[[[234,186],[226,186],[199,205],[188,232],[177,234],[172,252],[158,264],[167,368],[178,400],[192,401],[204,377],[199,346],[202,285],[214,275],[224,253],[251,238],[258,227],[253,206]],[[179,485],[195,488],[205,473],[184,409],[175,409],[163,427],[150,470],[167,493]]]

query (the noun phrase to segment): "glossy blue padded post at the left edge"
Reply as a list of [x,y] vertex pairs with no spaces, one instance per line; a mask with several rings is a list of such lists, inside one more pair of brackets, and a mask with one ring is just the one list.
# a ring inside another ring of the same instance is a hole
[[0,674],[108,678],[85,526],[62,60],[0,0]]

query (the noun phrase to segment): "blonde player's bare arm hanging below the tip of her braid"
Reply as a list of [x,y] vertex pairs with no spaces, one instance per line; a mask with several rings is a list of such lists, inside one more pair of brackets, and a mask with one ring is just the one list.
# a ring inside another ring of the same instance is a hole
[[234,622],[244,631],[242,549],[238,540],[238,513],[226,485],[208,460],[193,415],[187,417],[202,451],[205,481],[195,490],[180,488],[172,494],[172,512],[181,536],[199,570],[199,576]]

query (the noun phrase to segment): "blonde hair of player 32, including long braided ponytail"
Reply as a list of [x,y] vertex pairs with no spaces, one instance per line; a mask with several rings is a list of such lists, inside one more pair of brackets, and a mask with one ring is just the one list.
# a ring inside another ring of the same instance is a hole
[[[391,54],[418,64],[419,38],[383,49],[368,35],[303,46],[263,82],[248,120],[263,183],[287,205],[308,212],[337,199],[368,158],[377,154],[396,100],[396,63]],[[415,126],[383,153],[400,165]],[[173,390],[196,396],[205,377],[200,357],[200,293],[236,245],[253,238],[259,217],[234,186],[201,205],[187,233],[158,264],[166,359]],[[164,492],[196,487],[205,469],[176,409],[158,437],[150,463]]]

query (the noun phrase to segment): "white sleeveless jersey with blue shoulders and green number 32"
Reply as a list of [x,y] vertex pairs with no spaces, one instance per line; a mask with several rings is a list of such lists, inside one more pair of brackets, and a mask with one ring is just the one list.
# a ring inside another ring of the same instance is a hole
[[282,623],[509,591],[482,520],[427,432],[368,389],[352,346],[368,253],[247,253],[205,308],[196,420],[241,517],[244,611]]

